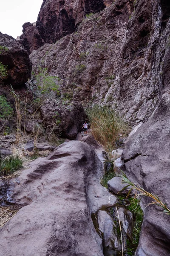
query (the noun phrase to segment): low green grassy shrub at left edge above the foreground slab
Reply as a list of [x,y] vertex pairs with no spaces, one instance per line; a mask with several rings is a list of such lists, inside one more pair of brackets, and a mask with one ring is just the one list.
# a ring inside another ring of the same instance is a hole
[[21,169],[23,167],[23,160],[17,156],[9,156],[3,158],[0,155],[0,175],[6,176],[10,175],[13,172]]

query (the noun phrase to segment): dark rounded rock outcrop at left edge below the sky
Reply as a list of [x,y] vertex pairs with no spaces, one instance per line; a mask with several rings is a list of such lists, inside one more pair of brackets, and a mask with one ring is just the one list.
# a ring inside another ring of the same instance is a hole
[[31,77],[32,64],[28,52],[13,37],[0,32],[0,46],[7,47],[8,51],[0,55],[0,62],[7,66],[5,84],[22,86]]

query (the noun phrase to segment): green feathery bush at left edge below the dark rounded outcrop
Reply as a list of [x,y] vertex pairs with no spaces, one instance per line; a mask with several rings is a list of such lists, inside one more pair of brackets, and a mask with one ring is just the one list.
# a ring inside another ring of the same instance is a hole
[[8,119],[13,113],[13,109],[10,104],[7,102],[5,96],[0,95],[0,118]]

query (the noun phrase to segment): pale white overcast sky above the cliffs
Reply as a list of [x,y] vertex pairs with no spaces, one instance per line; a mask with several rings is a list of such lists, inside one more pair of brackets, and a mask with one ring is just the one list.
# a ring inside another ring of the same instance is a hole
[[0,32],[15,39],[25,22],[37,21],[43,0],[0,0]]

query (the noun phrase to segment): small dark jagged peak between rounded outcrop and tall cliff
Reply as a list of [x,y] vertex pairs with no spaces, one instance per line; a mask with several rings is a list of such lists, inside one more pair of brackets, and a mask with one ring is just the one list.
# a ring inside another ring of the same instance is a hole
[[24,23],[23,34],[20,35],[18,40],[18,42],[23,45],[29,54],[33,50],[37,50],[42,45],[44,45],[44,41],[40,37],[38,29],[35,25],[30,22]]

